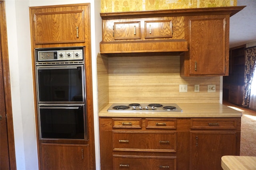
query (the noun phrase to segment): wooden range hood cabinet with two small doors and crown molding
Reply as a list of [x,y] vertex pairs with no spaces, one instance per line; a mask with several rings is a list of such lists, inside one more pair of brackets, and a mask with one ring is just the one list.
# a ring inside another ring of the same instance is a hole
[[[188,52],[191,43],[190,27],[189,23],[186,23],[190,20],[187,18],[226,15],[229,24],[229,17],[243,8],[244,6],[232,6],[101,13],[100,53],[108,57],[147,53],[179,55]],[[204,20],[204,17],[200,20]],[[229,29],[229,25],[226,28]],[[228,40],[228,33],[225,36]],[[224,44],[228,48],[228,42]]]

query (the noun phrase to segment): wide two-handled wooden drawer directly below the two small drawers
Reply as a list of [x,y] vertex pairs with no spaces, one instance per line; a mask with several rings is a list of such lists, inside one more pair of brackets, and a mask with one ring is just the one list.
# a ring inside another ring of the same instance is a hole
[[176,152],[176,132],[113,131],[113,150]]

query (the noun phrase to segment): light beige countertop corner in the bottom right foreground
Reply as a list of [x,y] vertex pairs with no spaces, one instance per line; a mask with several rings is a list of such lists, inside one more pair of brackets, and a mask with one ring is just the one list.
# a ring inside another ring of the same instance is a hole
[[256,170],[256,156],[222,156],[223,170]]

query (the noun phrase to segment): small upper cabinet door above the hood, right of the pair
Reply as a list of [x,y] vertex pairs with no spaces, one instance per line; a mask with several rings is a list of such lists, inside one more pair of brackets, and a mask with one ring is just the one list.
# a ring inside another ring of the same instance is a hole
[[145,39],[146,38],[171,38],[172,21],[145,21]]

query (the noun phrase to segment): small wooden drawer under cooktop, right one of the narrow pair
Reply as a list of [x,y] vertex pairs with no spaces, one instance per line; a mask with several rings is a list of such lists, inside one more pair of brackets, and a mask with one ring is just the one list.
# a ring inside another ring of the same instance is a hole
[[176,129],[176,119],[146,119],[146,128]]

